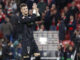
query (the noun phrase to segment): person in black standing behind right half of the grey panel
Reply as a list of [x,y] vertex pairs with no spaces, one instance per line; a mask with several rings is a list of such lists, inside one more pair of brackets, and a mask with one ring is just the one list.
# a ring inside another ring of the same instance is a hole
[[50,29],[50,26],[52,24],[52,20],[55,20],[55,25],[57,25],[58,22],[58,17],[59,16],[59,12],[57,11],[57,9],[54,9],[55,7],[52,6],[52,8],[50,9],[50,11],[46,12],[46,16],[45,16],[45,28],[47,30]]

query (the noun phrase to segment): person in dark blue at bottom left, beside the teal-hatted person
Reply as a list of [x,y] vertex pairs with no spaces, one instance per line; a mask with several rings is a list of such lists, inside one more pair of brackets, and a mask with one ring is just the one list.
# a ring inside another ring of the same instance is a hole
[[14,47],[13,43],[8,42],[7,46],[3,49],[3,60],[11,60],[14,59]]

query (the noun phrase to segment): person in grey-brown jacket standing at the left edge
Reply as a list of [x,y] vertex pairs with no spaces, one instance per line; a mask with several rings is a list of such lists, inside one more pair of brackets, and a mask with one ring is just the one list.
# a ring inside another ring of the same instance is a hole
[[3,32],[4,36],[7,37],[8,40],[10,41],[13,27],[12,27],[12,24],[9,22],[8,17],[6,17],[5,22],[1,25],[1,31]]

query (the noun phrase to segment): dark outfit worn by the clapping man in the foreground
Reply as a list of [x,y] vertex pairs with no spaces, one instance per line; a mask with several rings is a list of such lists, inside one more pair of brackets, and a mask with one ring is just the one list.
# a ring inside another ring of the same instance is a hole
[[30,54],[32,55],[34,52],[38,52],[38,47],[35,43],[35,40],[33,38],[33,24],[37,17],[36,15],[32,16],[25,16],[24,19],[22,19],[22,15],[19,19],[19,27],[20,33],[22,35],[22,55],[28,54],[27,47],[30,47]]

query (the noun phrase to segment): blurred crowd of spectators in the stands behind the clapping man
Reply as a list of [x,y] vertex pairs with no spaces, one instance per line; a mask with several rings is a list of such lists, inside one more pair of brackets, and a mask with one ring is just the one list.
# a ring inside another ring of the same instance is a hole
[[[17,33],[21,3],[28,5],[29,15],[32,15],[33,3],[39,10],[41,19],[35,22],[34,31],[59,31],[60,43],[70,40],[80,52],[80,9],[75,1],[0,0],[0,57],[4,57],[3,60],[21,59],[21,36]],[[71,47],[70,45],[70,50]],[[77,55],[80,56],[80,54]]]

